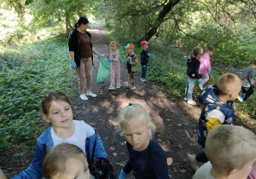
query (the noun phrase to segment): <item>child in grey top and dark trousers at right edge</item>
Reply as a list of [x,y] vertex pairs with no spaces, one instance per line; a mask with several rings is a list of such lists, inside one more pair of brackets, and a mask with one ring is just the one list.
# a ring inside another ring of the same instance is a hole
[[250,95],[253,95],[255,84],[254,84],[254,75],[256,68],[256,60],[253,61],[253,66],[248,66],[244,69],[241,74],[241,92],[242,95],[239,95],[237,98],[239,101],[247,101]]

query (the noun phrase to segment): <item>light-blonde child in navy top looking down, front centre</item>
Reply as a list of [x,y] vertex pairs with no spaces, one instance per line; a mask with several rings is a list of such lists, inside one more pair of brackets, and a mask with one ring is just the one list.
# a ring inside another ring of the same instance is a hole
[[136,178],[169,178],[166,153],[152,139],[155,126],[146,109],[130,103],[119,114],[119,128],[125,134],[129,152],[119,179],[125,179],[131,170]]

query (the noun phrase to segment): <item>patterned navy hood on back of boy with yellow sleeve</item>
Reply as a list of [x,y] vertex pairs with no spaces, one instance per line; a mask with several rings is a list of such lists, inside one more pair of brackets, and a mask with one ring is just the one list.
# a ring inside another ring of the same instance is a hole
[[207,88],[205,88],[204,90],[201,90],[201,93],[199,96],[199,100],[201,101],[201,103],[205,106],[209,104],[216,104],[216,105],[223,105],[225,107],[232,108],[232,105],[230,105],[232,104],[232,102],[225,103],[224,101],[221,101],[218,98],[218,95],[215,94],[214,90],[218,90],[218,87],[215,84],[211,84],[207,86]]

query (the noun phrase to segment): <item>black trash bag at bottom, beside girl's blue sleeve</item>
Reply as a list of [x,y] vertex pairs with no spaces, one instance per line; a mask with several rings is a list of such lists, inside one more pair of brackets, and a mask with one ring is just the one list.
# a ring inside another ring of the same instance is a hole
[[108,159],[98,158],[92,164],[91,175],[95,177],[95,179],[117,179],[113,175],[113,166],[110,164]]

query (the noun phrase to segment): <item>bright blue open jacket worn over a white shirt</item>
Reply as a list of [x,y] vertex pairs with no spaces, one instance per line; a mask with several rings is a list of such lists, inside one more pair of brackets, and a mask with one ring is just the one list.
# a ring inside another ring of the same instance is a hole
[[[26,170],[20,172],[20,174],[14,176],[14,179],[41,179],[43,177],[43,161],[44,161],[44,154],[54,146],[52,137],[50,134],[50,126],[47,130],[44,130],[43,134],[38,137],[37,146],[35,149],[34,156],[35,158],[32,160],[32,164],[28,166]],[[96,130],[96,129],[94,129]],[[90,139],[86,139],[85,141],[85,152],[86,158],[88,161],[89,166],[91,166],[92,155],[93,155],[93,147],[96,141],[96,151],[95,157],[100,158],[107,158],[107,153],[105,153],[103,142],[101,136],[96,135],[96,132],[93,136],[90,136]]]

